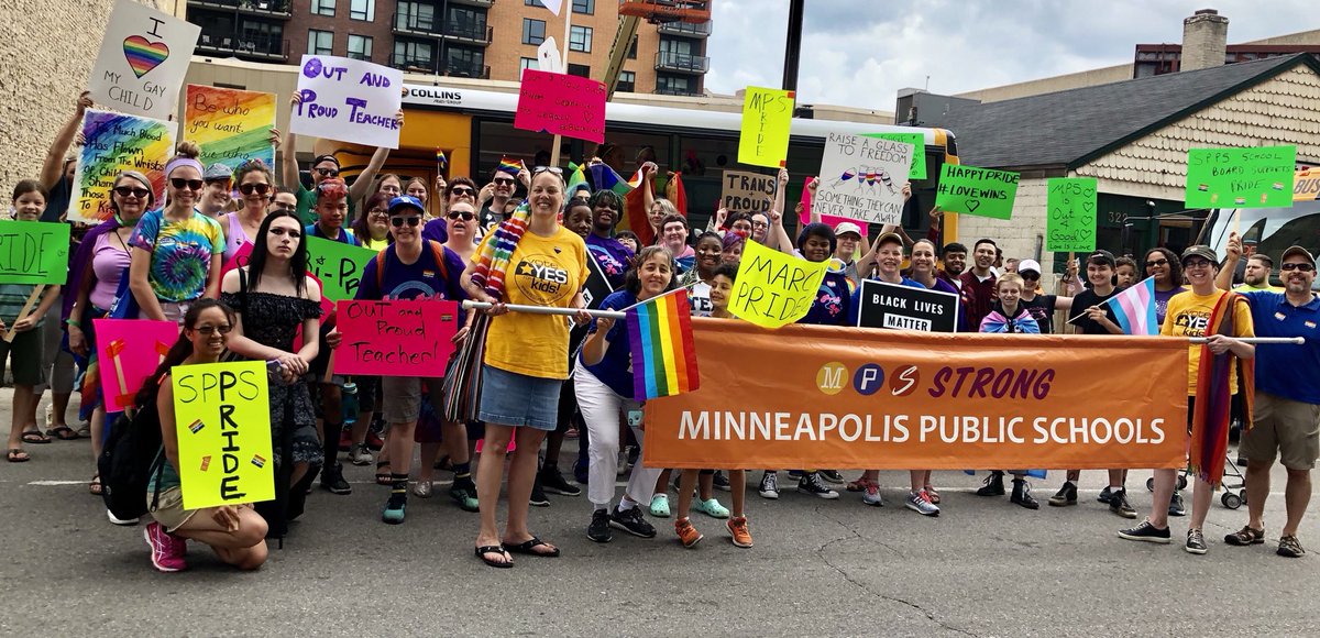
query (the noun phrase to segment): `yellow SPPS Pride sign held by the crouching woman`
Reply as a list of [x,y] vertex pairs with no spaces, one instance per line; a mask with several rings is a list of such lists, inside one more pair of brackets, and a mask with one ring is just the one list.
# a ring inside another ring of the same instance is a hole
[[170,372],[183,509],[275,499],[265,362],[176,366]]

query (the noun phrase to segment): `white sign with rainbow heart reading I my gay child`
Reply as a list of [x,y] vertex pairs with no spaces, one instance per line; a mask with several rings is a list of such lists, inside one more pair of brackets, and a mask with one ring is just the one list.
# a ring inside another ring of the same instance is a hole
[[202,28],[119,0],[106,24],[87,91],[92,102],[115,111],[158,120],[178,112],[178,91]]

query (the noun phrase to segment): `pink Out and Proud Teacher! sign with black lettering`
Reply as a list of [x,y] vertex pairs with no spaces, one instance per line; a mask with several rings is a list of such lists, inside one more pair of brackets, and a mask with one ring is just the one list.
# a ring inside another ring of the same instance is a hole
[[334,372],[374,376],[444,376],[454,351],[454,301],[339,301],[343,341]]

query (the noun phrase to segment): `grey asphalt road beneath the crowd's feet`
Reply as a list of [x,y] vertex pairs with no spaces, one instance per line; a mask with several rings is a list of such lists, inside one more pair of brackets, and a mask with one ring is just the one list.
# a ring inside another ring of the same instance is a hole
[[[0,392],[0,423],[9,421],[9,396]],[[33,461],[0,464],[0,635],[1320,633],[1320,515],[1313,506],[1300,532],[1312,553],[1275,556],[1278,469],[1267,543],[1225,546],[1246,509],[1216,501],[1205,556],[1181,549],[1187,519],[1173,519],[1171,546],[1117,538],[1130,523],[1094,501],[1101,472],[1084,473],[1078,506],[1039,511],[977,497],[979,477],[941,472],[936,519],[902,506],[903,473],[882,474],[891,487],[880,509],[846,493],[822,501],[785,490],[777,502],[748,494],[751,549],[733,547],[723,523],[704,514],[693,515],[706,534],[694,549],[678,544],[672,519],[652,519],[656,539],[616,532],[595,544],[585,536],[585,497],[552,495],[550,507],[532,509],[532,528],[564,556],[519,556],[513,569],[496,571],[473,556],[477,515],[442,486],[430,501],[409,501],[405,524],[387,526],[385,489],[368,468],[350,466],[352,495],[318,489],[261,571],[234,572],[194,543],[190,569],[166,575],[152,569],[141,526],[110,524],[88,495],[87,440],[28,449]],[[1148,476],[1133,473],[1138,511],[1150,506]],[[1060,481],[1036,481],[1035,495],[1044,501]]]

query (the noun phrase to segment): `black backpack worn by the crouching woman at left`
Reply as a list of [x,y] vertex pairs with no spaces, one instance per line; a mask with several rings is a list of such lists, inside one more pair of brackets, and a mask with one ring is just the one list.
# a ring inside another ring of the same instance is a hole
[[164,469],[164,464],[156,464],[161,445],[161,420],[153,392],[152,400],[132,416],[128,412],[119,415],[96,460],[102,498],[115,518],[128,520],[147,514],[147,486],[152,474],[160,477]]

